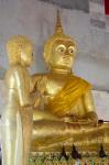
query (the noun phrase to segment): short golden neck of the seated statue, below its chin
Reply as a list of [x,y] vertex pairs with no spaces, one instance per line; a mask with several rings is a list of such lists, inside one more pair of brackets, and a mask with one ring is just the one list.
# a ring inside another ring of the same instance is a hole
[[69,75],[72,73],[72,70],[70,69],[65,69],[65,68],[64,69],[62,69],[62,68],[52,68],[51,73]]

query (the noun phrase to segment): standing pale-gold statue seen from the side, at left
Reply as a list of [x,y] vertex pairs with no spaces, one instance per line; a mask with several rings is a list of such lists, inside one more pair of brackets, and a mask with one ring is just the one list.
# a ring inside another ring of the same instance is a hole
[[26,165],[32,134],[31,77],[26,69],[33,61],[32,43],[17,35],[8,41],[10,67],[6,74],[6,107],[2,114],[3,165]]

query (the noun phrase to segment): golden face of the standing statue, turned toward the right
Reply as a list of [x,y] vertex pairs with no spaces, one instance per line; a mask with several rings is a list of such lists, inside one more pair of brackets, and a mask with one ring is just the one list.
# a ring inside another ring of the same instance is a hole
[[21,64],[30,66],[33,62],[33,47],[30,44],[21,48]]

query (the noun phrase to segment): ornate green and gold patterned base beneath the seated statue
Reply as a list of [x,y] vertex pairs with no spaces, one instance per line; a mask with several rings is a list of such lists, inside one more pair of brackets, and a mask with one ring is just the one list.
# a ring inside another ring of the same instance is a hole
[[[69,155],[70,153],[67,153]],[[90,164],[109,164],[109,156],[99,158],[98,156],[83,156],[81,160],[74,160],[72,156],[66,160],[59,160],[59,153],[31,153],[29,165],[90,165]]]

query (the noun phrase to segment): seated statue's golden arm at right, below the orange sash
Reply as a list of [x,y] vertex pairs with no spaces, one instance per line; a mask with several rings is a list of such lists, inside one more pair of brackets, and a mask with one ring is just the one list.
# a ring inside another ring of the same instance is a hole
[[84,96],[83,96],[83,103],[84,103],[84,109],[85,109],[85,116],[83,119],[97,123],[98,122],[98,117],[95,110],[95,103],[94,103],[94,98],[90,90],[88,90]]

